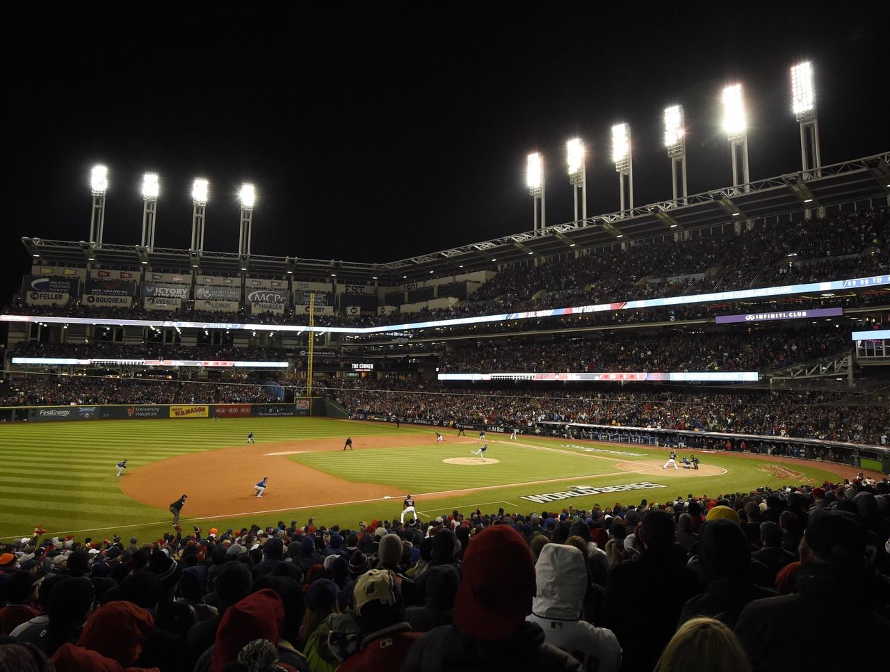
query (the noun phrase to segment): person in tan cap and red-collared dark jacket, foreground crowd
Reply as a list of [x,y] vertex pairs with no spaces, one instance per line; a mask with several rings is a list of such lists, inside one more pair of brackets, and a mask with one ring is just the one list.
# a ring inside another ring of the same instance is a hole
[[405,620],[399,582],[391,571],[367,571],[356,582],[353,595],[360,627],[359,651],[344,660],[337,672],[400,669],[420,633],[411,632]]

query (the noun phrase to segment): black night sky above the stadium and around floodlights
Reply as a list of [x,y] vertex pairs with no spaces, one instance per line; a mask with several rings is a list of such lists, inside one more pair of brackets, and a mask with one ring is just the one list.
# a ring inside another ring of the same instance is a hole
[[236,251],[236,194],[252,181],[255,254],[387,262],[530,230],[532,150],[548,166],[547,223],[572,219],[563,166],[574,136],[588,147],[588,214],[617,210],[609,134],[619,121],[633,129],[636,205],[670,198],[662,110],[677,102],[690,193],[729,184],[719,96],[735,81],[752,179],[797,171],[789,67],[805,59],[823,164],[890,150],[878,3],[374,5],[53,9],[65,35],[37,28],[38,16],[10,20],[36,41],[4,45],[13,180],[0,300],[30,262],[21,236],[88,238],[96,162],[109,166],[107,242],[138,242],[139,187],[153,171],[158,247],[188,246],[201,175],[206,249]]

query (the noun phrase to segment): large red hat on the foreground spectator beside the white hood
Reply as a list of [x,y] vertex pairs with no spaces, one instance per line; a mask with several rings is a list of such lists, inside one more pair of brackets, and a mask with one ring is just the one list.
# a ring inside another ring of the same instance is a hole
[[[510,567],[509,576],[503,568]],[[516,632],[531,612],[535,565],[522,535],[507,525],[482,530],[461,565],[454,623],[467,636],[497,642]]]

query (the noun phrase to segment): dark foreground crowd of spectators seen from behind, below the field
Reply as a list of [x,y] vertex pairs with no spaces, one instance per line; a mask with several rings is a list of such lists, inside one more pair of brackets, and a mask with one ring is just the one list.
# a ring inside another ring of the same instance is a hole
[[0,665],[772,672],[851,655],[863,669],[885,665],[886,479],[636,501],[348,528],[175,526],[128,543],[36,529],[0,547]]

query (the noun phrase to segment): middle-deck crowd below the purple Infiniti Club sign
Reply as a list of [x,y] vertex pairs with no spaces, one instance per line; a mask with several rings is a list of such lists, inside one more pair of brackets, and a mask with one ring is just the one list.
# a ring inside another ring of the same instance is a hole
[[849,350],[849,329],[694,330],[673,335],[591,336],[547,342],[477,341],[446,352],[454,372],[765,371]]

